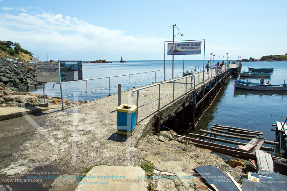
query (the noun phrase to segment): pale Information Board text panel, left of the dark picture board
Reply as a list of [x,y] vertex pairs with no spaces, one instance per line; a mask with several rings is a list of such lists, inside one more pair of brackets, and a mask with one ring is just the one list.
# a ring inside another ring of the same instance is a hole
[[60,82],[59,63],[36,63],[38,82]]

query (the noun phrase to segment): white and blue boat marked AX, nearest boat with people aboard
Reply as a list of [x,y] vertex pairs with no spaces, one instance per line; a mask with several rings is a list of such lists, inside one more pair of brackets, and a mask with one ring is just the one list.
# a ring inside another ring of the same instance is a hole
[[283,85],[271,85],[271,84],[260,84],[252,82],[244,82],[241,80],[235,80],[235,89],[248,89],[248,90],[265,90],[265,91],[287,91],[287,84]]

